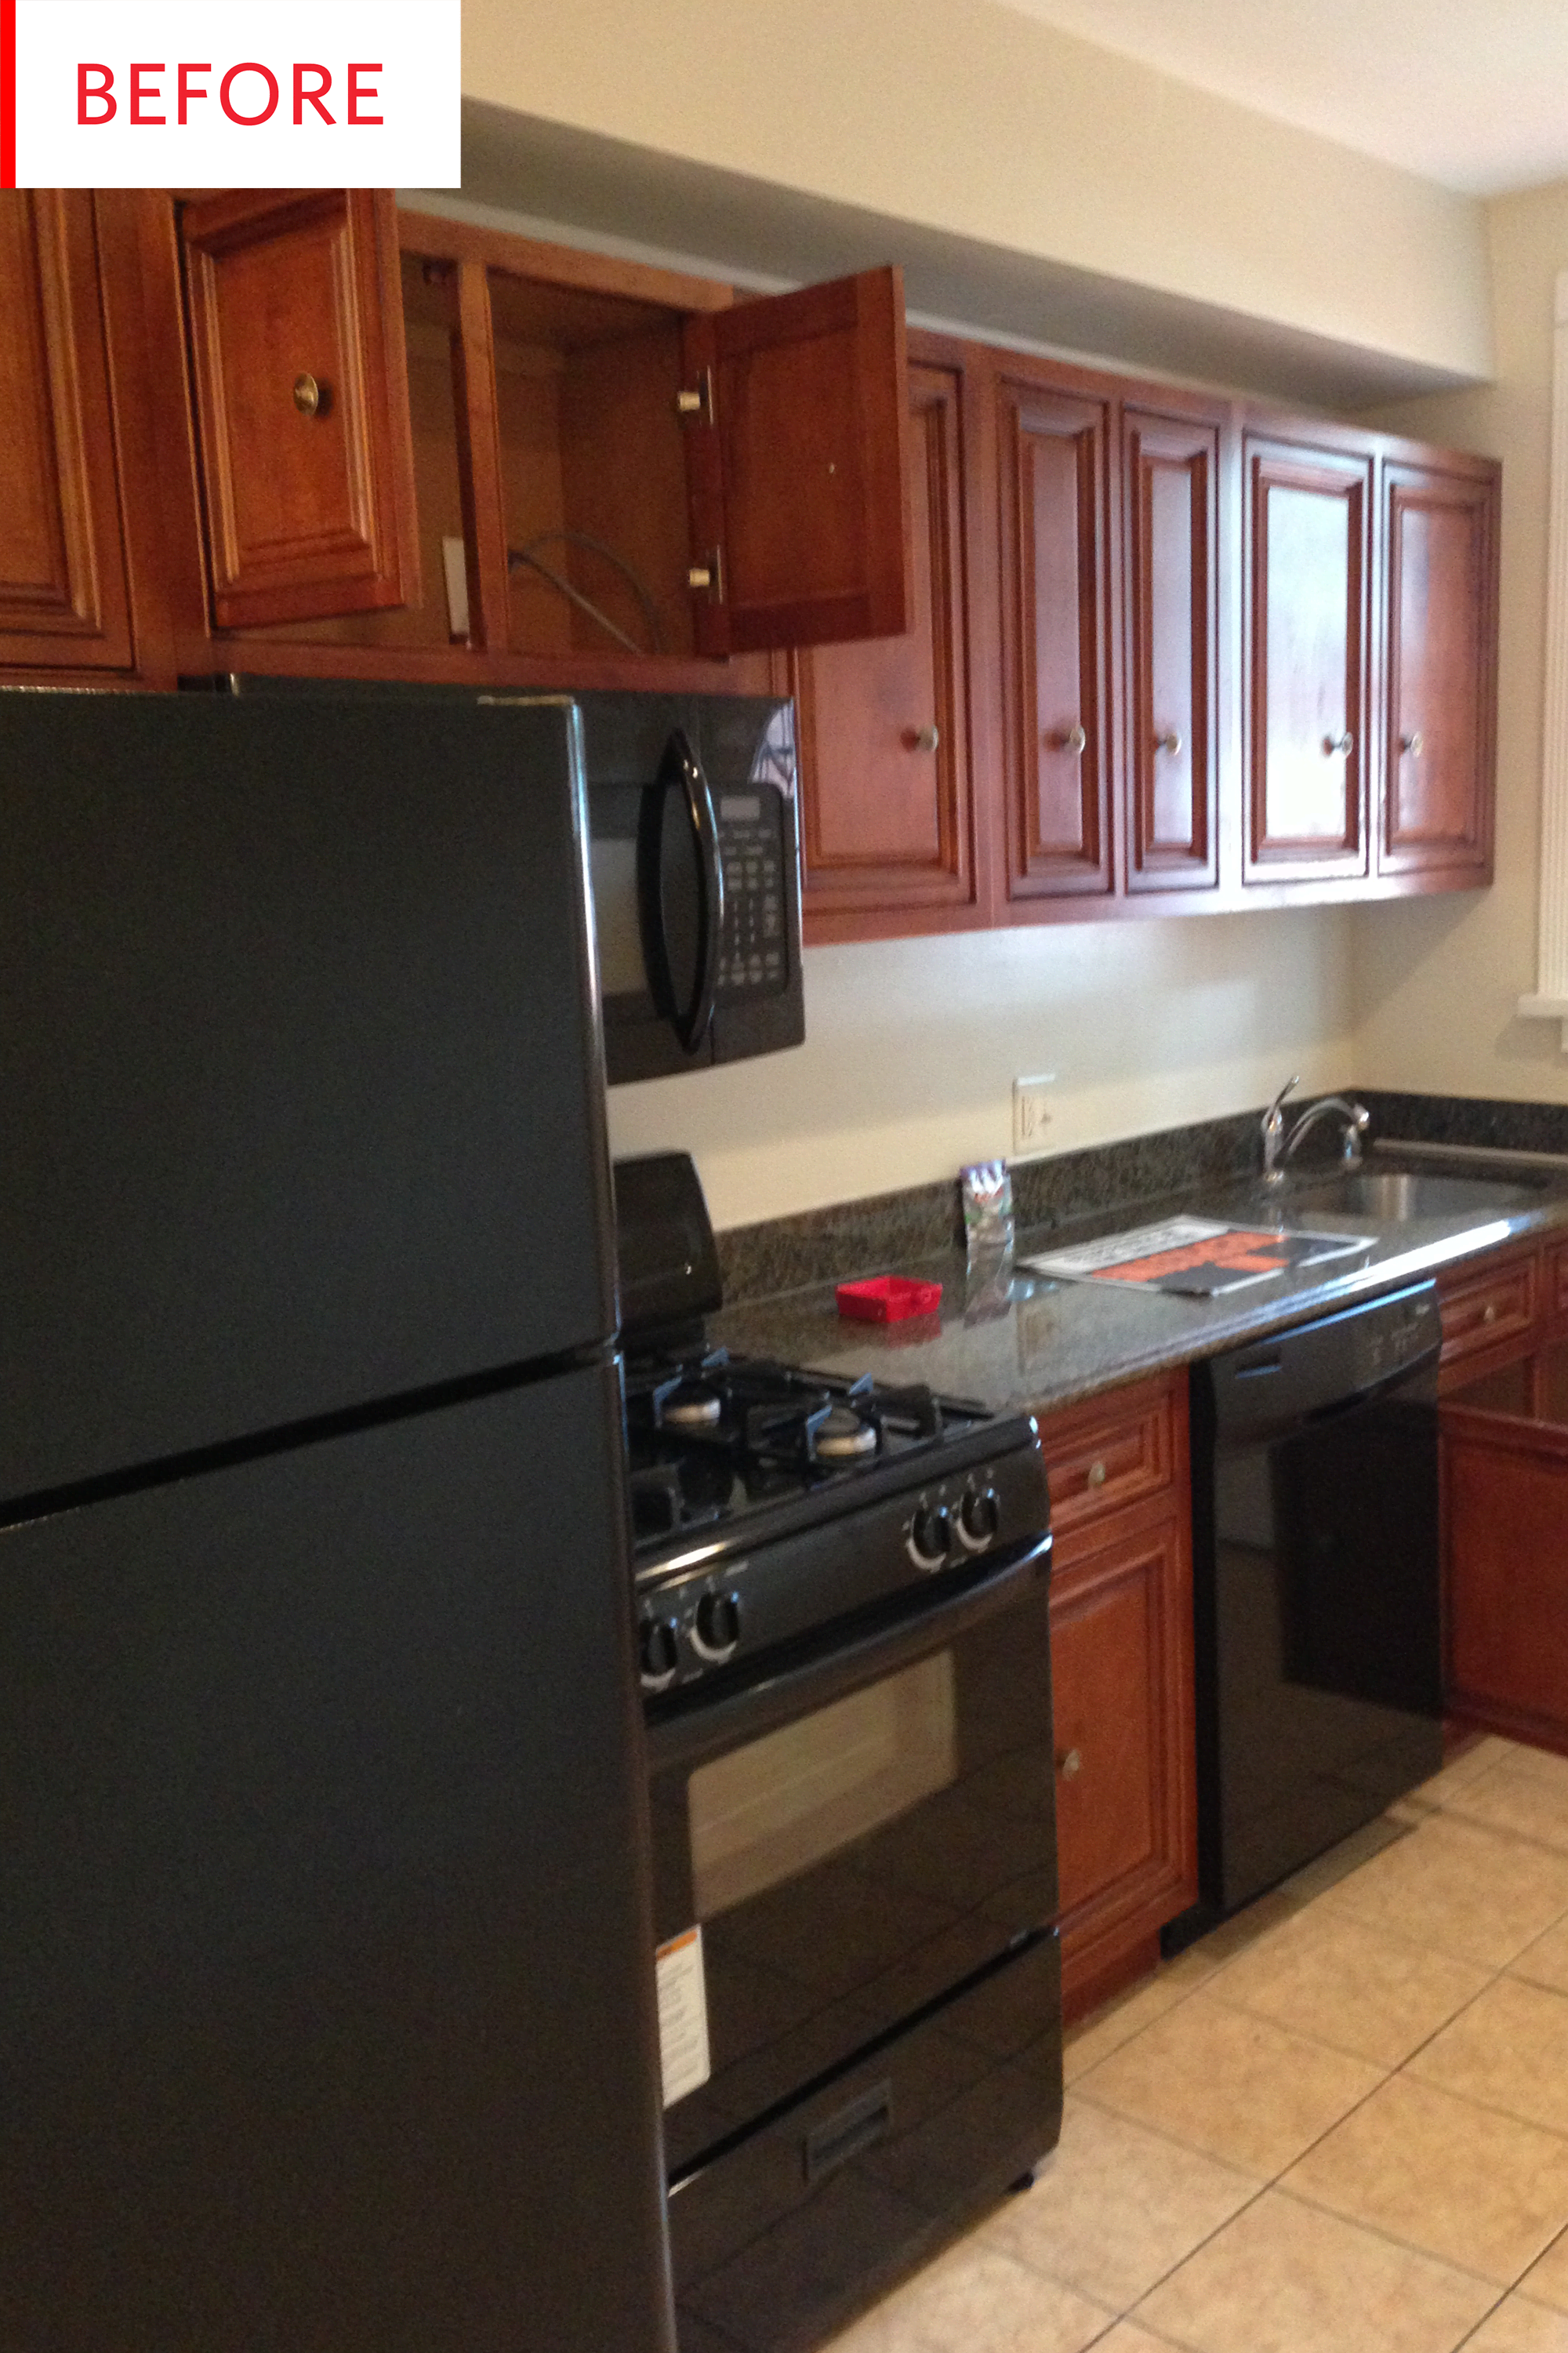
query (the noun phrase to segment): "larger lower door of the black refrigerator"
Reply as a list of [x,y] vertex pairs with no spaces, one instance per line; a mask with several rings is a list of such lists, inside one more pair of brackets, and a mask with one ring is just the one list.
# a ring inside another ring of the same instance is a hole
[[0,1532],[7,2353],[671,2353],[624,1508],[596,1365]]

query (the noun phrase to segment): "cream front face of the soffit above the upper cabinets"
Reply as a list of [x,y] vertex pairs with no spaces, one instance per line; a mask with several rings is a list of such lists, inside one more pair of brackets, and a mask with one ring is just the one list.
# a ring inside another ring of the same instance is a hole
[[1457,376],[1490,369],[1471,198],[996,0],[466,0],[464,89]]

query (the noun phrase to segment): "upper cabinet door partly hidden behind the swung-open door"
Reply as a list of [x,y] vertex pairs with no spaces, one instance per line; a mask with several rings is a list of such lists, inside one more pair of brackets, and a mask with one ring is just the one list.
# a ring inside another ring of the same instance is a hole
[[909,409],[911,626],[796,661],[808,936],[975,908],[958,369],[911,365]]

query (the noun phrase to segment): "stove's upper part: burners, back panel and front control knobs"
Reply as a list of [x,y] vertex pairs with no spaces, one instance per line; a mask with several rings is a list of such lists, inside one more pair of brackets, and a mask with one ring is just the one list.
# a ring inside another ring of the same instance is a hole
[[[897,1607],[1045,1525],[1029,1414],[709,1348],[718,1268],[683,1155],[617,1169],[655,1327],[626,1334],[643,1692],[678,1701],[763,1649]],[[657,1280],[647,1268],[659,1261]]]

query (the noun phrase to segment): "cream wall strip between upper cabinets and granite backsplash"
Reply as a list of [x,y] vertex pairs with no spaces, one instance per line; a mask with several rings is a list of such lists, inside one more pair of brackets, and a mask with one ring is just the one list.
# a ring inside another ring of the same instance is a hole
[[1344,1085],[1349,1033],[1349,908],[808,948],[803,1047],[612,1087],[610,1139],[695,1153],[744,1226],[1010,1153],[1019,1075],[1071,1148]]

